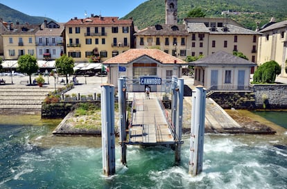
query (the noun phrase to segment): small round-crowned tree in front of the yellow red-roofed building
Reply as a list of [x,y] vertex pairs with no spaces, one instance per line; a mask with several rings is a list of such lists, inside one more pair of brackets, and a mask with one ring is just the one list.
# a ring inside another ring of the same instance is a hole
[[66,83],[69,82],[68,74],[73,74],[74,61],[72,57],[62,55],[60,58],[55,60],[55,67],[58,73],[66,75]]

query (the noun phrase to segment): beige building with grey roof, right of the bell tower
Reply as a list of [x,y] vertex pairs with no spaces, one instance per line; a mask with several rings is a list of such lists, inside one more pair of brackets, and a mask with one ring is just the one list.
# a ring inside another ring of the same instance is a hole
[[229,18],[186,18],[189,37],[186,55],[211,55],[217,51],[238,51],[257,62],[258,39],[261,33],[248,30]]

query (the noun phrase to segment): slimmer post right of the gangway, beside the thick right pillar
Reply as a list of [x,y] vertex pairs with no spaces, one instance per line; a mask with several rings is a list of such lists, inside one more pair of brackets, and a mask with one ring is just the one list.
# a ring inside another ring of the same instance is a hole
[[176,131],[178,141],[175,145],[175,163],[180,163],[180,152],[182,145],[182,112],[183,112],[183,97],[184,97],[184,80],[179,78],[177,80],[177,88],[175,89],[177,93],[177,111],[176,111]]

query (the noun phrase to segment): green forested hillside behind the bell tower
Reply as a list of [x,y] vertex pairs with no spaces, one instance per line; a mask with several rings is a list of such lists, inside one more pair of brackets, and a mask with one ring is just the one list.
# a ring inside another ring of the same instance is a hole
[[[255,30],[256,23],[263,26],[275,17],[276,21],[287,19],[287,3],[284,0],[178,0],[178,23],[184,19],[193,8],[200,7],[206,14],[205,17],[231,17],[239,24]],[[221,12],[229,10],[228,15]],[[134,25],[140,29],[155,24],[165,23],[165,1],[150,0],[142,3],[128,13],[123,19],[132,17]]]

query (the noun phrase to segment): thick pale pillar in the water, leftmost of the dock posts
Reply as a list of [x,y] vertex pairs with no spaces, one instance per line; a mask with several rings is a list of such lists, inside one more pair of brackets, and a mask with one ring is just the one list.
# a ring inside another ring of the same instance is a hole
[[101,86],[102,111],[102,150],[103,174],[110,176],[116,172],[115,134],[114,134],[114,86]]

